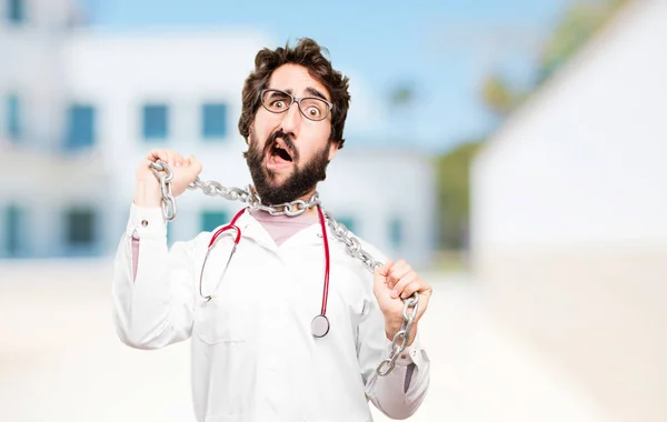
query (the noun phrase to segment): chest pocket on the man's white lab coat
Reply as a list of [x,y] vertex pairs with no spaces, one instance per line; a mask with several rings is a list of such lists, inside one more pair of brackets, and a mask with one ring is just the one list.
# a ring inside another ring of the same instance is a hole
[[218,297],[199,304],[193,330],[207,344],[243,342],[248,338],[250,316],[248,305],[240,303],[238,295]]

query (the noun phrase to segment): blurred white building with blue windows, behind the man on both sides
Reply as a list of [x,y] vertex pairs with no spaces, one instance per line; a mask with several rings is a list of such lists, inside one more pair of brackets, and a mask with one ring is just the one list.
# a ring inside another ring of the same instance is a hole
[[[104,31],[80,16],[67,0],[0,1],[0,257],[113,253],[152,148],[193,153],[205,180],[250,182],[242,82],[257,51],[280,42],[242,30]],[[320,190],[358,235],[418,267],[434,245],[432,192],[428,158],[354,145]],[[170,241],[240,205],[187,192]]]

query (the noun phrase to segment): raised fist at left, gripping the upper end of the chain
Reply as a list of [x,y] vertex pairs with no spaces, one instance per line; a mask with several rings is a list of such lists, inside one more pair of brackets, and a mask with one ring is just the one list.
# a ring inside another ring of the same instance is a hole
[[138,207],[150,208],[160,207],[161,204],[162,192],[160,190],[160,182],[156,179],[150,167],[151,162],[158,160],[162,160],[169,164],[173,172],[171,194],[175,197],[183,193],[188,189],[188,185],[195,182],[199,173],[201,173],[201,163],[195,155],[183,158],[181,154],[169,150],[151,150],[137,169],[135,204]]

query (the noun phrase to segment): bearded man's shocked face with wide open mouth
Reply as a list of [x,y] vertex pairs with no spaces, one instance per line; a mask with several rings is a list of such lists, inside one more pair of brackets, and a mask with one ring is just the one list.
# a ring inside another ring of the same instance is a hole
[[[276,69],[267,88],[296,98],[319,93],[331,101],[327,89],[297,64]],[[338,151],[338,143],[329,140],[330,133],[330,114],[313,121],[301,114],[296,102],[282,113],[259,107],[248,137],[246,161],[263,203],[279,204],[312,194]]]

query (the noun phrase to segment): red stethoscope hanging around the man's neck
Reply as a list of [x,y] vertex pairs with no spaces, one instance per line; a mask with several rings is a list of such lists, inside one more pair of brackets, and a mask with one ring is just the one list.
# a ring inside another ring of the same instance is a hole
[[[246,210],[247,210],[247,208],[243,208],[241,211],[239,211],[233,217],[233,219],[231,219],[231,222],[229,224],[216,230],[216,232],[211,237],[211,241],[209,242],[208,249],[206,251],[206,257],[203,258],[203,263],[201,265],[201,272],[199,273],[199,295],[202,299],[205,299],[207,302],[213,298],[213,294],[203,295],[203,293],[201,291],[201,284],[202,284],[202,279],[203,279],[203,268],[206,267],[206,261],[208,260],[208,257],[209,257],[211,250],[216,245],[218,238],[221,234],[223,234],[225,232],[228,232],[229,230],[233,230],[236,232],[236,235],[233,239],[233,247],[231,248],[231,252],[229,253],[229,259],[227,260],[227,264],[225,264],[225,270],[222,270],[222,275],[220,275],[220,279],[218,279],[218,283],[216,284],[216,288],[213,289],[213,292],[215,292],[220,287],[220,283],[222,282],[222,279],[225,278],[225,274],[227,273],[227,269],[229,268],[229,262],[231,261],[231,257],[233,257],[237,245],[239,244],[239,241],[241,240],[241,229],[239,229],[239,227],[236,225],[236,222],[239,219],[239,217],[241,217],[241,214],[243,212],[246,212]],[[325,241],[325,290],[322,292],[322,308],[321,308],[320,314],[316,315],[312,319],[312,322],[310,323],[310,330],[312,332],[312,335],[319,339],[319,338],[327,335],[327,333],[329,332],[329,320],[327,319],[327,300],[329,299],[329,241],[327,239],[325,214],[323,214],[321,208],[319,208],[319,207],[317,208],[317,211],[318,211],[318,215],[319,215],[319,222],[322,228],[322,239]]]

